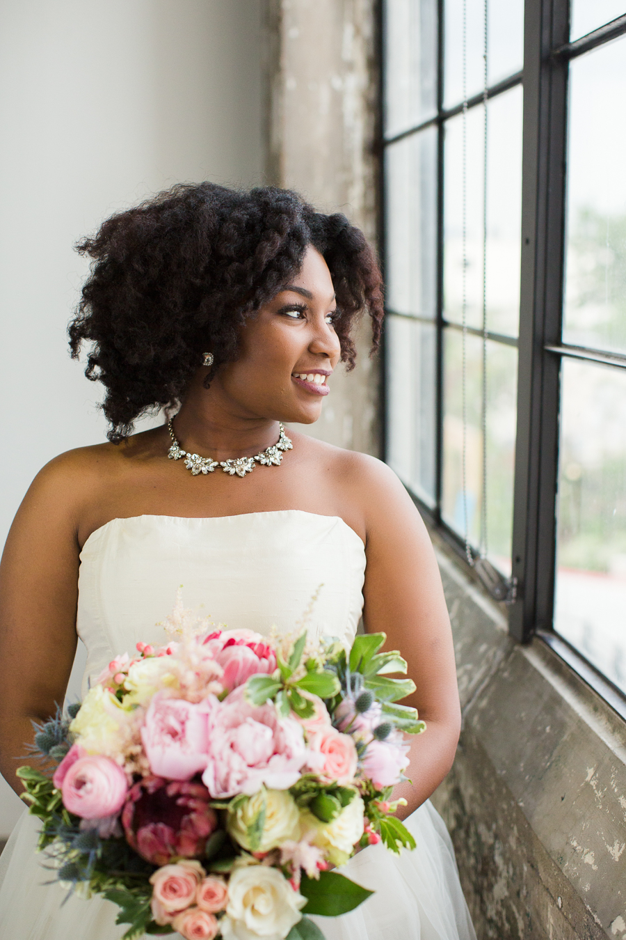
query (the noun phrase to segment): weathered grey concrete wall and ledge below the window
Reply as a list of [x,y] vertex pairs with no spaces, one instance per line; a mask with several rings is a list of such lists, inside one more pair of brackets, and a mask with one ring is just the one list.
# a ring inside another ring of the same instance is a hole
[[479,940],[626,938],[626,726],[439,556],[464,710],[433,801]]

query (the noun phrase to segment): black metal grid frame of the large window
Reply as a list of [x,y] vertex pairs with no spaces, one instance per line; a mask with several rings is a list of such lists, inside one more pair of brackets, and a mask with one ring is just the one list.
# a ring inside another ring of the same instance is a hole
[[[463,111],[463,103],[446,110],[444,94],[444,3],[438,0],[436,115],[402,133],[380,134],[382,160],[389,145],[430,126],[438,128],[437,149],[437,298],[436,298],[436,456],[435,508],[411,493],[424,515],[465,559],[463,540],[441,518],[443,466],[443,336],[458,324],[444,319],[444,127]],[[380,5],[381,69],[385,68],[383,3]],[[565,269],[567,122],[569,64],[579,55],[626,34],[626,15],[570,42],[570,0],[526,0],[524,68],[488,88],[491,99],[523,85],[522,255],[520,322],[517,339],[488,335],[518,350],[517,431],[515,444],[511,580],[482,568],[476,573],[498,601],[509,603],[511,636],[528,643],[539,636],[626,718],[626,696],[584,656],[553,630],[557,549],[557,473],[560,371],[563,359],[584,359],[626,368],[626,355],[563,343],[562,311]],[[381,83],[382,84],[382,83]],[[479,106],[481,92],[466,102]],[[381,97],[382,108],[382,97]],[[381,173],[384,204],[384,173]],[[384,230],[383,230],[384,235]],[[382,240],[384,245],[384,238]],[[383,253],[384,260],[384,253]],[[395,313],[389,310],[390,314]],[[422,320],[426,318],[415,317]],[[432,322],[432,321],[430,321]],[[466,327],[482,337],[481,330]],[[385,357],[383,357],[385,360]],[[383,367],[383,389],[385,368]],[[385,392],[383,392],[385,396]],[[383,414],[383,448],[387,456],[387,411]]]

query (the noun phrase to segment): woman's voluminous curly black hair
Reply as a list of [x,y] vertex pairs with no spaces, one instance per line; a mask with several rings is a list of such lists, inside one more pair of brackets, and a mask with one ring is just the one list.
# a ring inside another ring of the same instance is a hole
[[109,440],[123,440],[146,411],[175,407],[206,350],[215,357],[207,387],[221,363],[237,359],[241,325],[298,273],[310,244],[328,264],[342,361],[353,368],[351,332],[364,310],[372,352],[378,347],[382,283],[374,251],[340,213],[276,187],[178,184],[78,243],[93,260],[69,346],[77,358],[92,344],[85,375],[106,388]]

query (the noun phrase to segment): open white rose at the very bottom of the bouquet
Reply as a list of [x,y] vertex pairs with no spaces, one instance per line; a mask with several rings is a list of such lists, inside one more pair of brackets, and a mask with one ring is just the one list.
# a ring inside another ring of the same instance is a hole
[[228,882],[228,906],[221,918],[223,940],[283,940],[300,919],[307,899],[278,869],[237,868]]

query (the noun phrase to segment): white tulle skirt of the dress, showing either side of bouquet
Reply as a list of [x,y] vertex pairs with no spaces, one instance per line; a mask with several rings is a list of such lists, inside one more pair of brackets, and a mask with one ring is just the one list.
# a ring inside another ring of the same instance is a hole
[[[418,843],[413,852],[374,845],[344,865],[344,874],[375,893],[343,917],[313,917],[327,940],[476,940],[440,816],[427,802],[405,824]],[[37,833],[37,818],[24,812],[0,856],[0,937],[119,940],[125,928],[115,925],[111,901],[64,902],[61,885],[46,885],[54,872],[41,865]]]

